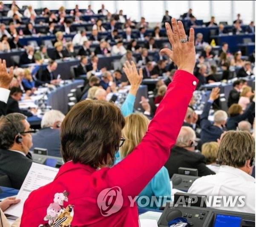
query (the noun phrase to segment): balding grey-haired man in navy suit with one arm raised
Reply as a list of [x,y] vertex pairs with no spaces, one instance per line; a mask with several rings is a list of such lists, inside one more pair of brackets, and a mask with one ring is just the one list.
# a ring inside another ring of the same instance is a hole
[[201,141],[202,143],[217,142],[224,132],[224,125],[227,122],[227,113],[223,110],[218,110],[214,113],[214,122],[208,120],[210,108],[213,102],[219,98],[219,88],[213,88],[209,100],[204,105],[203,113],[200,116],[201,126]]

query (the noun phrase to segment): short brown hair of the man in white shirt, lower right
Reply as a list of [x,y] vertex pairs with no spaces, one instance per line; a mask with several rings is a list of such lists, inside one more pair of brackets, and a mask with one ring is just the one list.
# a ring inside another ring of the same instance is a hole
[[220,165],[241,168],[255,157],[255,140],[249,132],[228,131],[221,139],[217,158]]

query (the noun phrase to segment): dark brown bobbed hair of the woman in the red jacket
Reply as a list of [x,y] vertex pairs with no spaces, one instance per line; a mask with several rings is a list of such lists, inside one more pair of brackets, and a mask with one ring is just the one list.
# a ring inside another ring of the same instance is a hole
[[84,100],[66,115],[60,132],[63,160],[98,168],[114,161],[125,120],[120,109],[106,101]]

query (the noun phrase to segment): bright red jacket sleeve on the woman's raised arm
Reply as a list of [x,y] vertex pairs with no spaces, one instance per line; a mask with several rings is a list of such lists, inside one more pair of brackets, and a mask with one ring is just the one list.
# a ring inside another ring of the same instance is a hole
[[141,143],[120,163],[107,171],[102,169],[106,185],[119,186],[124,202],[127,196],[137,196],[166,163],[197,82],[192,74],[177,70]]

